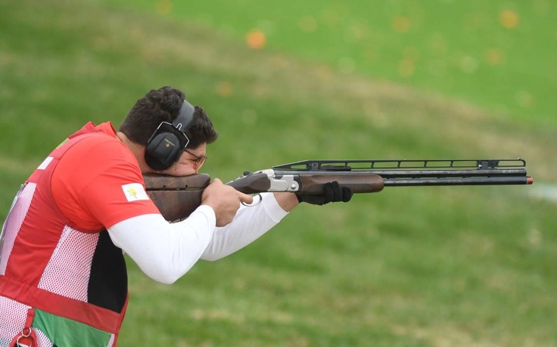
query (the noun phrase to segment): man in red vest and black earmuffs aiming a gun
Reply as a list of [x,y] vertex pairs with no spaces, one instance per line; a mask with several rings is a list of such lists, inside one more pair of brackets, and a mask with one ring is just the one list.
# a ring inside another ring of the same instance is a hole
[[168,223],[143,173],[190,175],[217,132],[178,89],[151,90],[116,132],[87,123],[19,190],[0,238],[0,347],[115,346],[128,302],[123,252],[145,274],[173,283],[199,259],[251,243],[300,202],[348,201],[338,183],[323,195],[250,195],[218,179],[187,219]]

